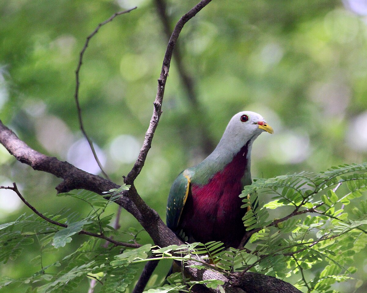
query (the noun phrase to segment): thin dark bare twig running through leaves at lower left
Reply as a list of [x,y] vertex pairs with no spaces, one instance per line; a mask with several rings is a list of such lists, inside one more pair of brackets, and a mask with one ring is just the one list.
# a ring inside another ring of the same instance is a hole
[[[54,224],[56,226],[59,226],[59,227],[63,227],[63,228],[68,228],[68,225],[66,224],[62,224],[60,222],[57,222],[57,221],[54,221],[50,218],[47,218],[45,215],[43,215],[41,212],[37,211],[37,209],[35,207],[33,207],[23,196],[22,194],[19,192],[18,190],[18,187],[17,185],[15,184],[15,182],[13,183],[13,187],[11,186],[0,186],[0,189],[10,189],[10,190],[13,190],[15,193],[17,193],[19,199],[21,199],[23,201],[23,203],[29,207],[33,212],[34,214],[36,214],[37,216],[39,216],[40,218],[46,220],[47,222],[51,223],[51,224]],[[132,247],[132,248],[138,248],[140,247],[141,245],[140,244],[136,244],[136,243],[126,243],[126,242],[121,242],[121,241],[116,241],[116,240],[113,240],[112,238],[110,237],[107,237],[103,234],[96,234],[96,233],[92,233],[92,232],[88,232],[88,231],[85,231],[85,230],[81,230],[79,232],[79,234],[84,234],[84,235],[88,235],[88,236],[93,236],[93,237],[97,237],[97,238],[101,238],[101,239],[105,239],[107,240],[108,242],[111,242],[117,246],[125,246],[125,247]]]

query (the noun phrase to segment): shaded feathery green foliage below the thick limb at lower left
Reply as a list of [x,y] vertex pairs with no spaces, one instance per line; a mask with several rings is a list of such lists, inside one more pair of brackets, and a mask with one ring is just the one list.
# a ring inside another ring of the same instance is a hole
[[[105,241],[97,238],[91,237],[72,254],[52,264],[46,265],[42,262],[44,254],[52,254],[55,249],[66,246],[82,229],[97,234],[130,238],[127,241],[138,240],[137,229],[117,232],[110,226],[113,214],[106,215],[105,210],[112,204],[111,198],[106,200],[87,191],[67,195],[90,204],[91,212],[87,218],[62,210],[58,215],[44,215],[67,225],[66,228],[51,224],[37,215],[25,214],[14,222],[0,225],[0,261],[4,264],[21,256],[26,245],[34,243],[41,247],[40,255],[31,262],[40,270],[25,279],[0,277],[0,289],[11,284],[29,284],[29,288],[35,289],[36,292],[73,292],[81,281],[95,278],[103,283],[102,292],[123,292],[131,284],[136,274],[134,265],[127,264],[116,268],[110,264],[115,260],[115,256],[121,254],[121,247],[109,244],[106,248],[102,246]],[[61,269],[54,274],[57,267]]]

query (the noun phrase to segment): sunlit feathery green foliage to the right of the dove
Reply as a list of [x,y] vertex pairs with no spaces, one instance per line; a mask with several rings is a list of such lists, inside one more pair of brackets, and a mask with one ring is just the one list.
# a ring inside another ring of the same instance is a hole
[[[345,207],[366,192],[366,171],[366,163],[341,165],[319,174],[258,179],[245,186],[244,206],[250,204],[248,194],[252,201],[265,194],[272,199],[244,217],[256,248],[240,269],[278,278],[300,275],[297,286],[308,292],[327,292],[333,283],[350,279],[356,271],[353,256],[366,246],[367,202],[353,202],[354,218]],[[284,206],[293,210],[282,212]],[[279,219],[269,216],[268,211],[276,209]],[[313,265],[324,269],[307,280],[304,271]]]

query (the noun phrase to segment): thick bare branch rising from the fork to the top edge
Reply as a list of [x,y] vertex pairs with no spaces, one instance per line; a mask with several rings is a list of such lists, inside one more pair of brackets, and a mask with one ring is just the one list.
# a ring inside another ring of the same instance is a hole
[[146,156],[148,154],[150,146],[152,145],[153,136],[157,128],[160,115],[162,113],[162,101],[163,101],[163,95],[164,95],[164,88],[166,86],[168,71],[170,70],[173,49],[177,42],[178,36],[183,26],[186,24],[186,22],[188,22],[191,18],[193,18],[197,14],[197,12],[199,12],[201,9],[207,6],[210,3],[210,1],[211,0],[200,1],[200,3],[198,3],[194,8],[192,8],[189,12],[183,15],[180,18],[180,20],[177,22],[177,24],[175,25],[175,28],[168,42],[166,54],[164,55],[161,74],[160,74],[160,78],[158,79],[157,95],[153,103],[154,104],[153,115],[152,115],[152,118],[150,119],[149,128],[145,133],[145,139],[143,142],[143,146],[140,150],[139,156],[137,158],[137,161],[135,162],[134,167],[132,167],[130,173],[125,178],[126,184],[132,185],[134,183],[135,178],[137,178],[137,176],[141,172],[141,169],[144,166]]

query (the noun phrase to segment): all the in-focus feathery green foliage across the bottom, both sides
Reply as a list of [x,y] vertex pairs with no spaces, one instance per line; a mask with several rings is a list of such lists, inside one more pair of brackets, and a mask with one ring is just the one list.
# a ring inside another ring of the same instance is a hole
[[[367,243],[367,163],[364,163],[341,165],[319,174],[301,172],[257,179],[245,186],[240,195],[243,208],[258,206],[243,218],[247,231],[245,249],[225,249],[221,242],[168,247],[146,244],[127,249],[112,244],[105,247],[103,240],[91,238],[60,260],[51,264],[42,262],[42,253],[67,246],[81,229],[127,242],[138,241],[137,229],[116,231],[110,226],[113,215],[106,214],[106,207],[118,198],[121,190],[106,193],[108,199],[85,191],[68,194],[91,207],[86,217],[67,210],[47,215],[68,228],[50,224],[36,215],[21,215],[14,222],[0,225],[0,261],[4,264],[21,256],[26,245],[41,247],[40,256],[31,262],[39,271],[25,279],[0,277],[0,289],[22,283],[35,292],[78,292],[75,288],[80,282],[94,278],[101,283],[98,292],[124,292],[137,277],[138,265],[149,258],[177,260],[183,266],[224,275],[251,271],[286,281],[296,277],[293,285],[304,292],[334,293],[335,282],[353,278],[356,272],[353,257]],[[224,292],[221,281],[193,281],[181,273],[169,276],[165,285],[147,292],[190,292],[198,283]]]

